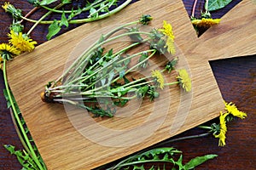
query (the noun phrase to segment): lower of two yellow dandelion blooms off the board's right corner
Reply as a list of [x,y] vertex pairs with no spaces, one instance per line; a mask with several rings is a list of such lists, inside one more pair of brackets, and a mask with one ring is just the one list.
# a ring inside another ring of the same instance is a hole
[[225,117],[228,115],[229,113],[222,113],[222,111],[220,111],[220,116],[219,116],[220,131],[218,134],[214,134],[214,137],[219,139],[218,146],[224,146],[226,144],[225,139],[226,139],[227,126],[226,126]]

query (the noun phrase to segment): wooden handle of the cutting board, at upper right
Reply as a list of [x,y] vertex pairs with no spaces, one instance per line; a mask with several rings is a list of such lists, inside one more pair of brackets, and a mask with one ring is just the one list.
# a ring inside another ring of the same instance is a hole
[[242,1],[224,15],[218,26],[212,26],[199,38],[191,53],[197,55],[208,49],[211,54],[204,53],[207,60],[256,54],[255,30],[256,5],[253,1]]

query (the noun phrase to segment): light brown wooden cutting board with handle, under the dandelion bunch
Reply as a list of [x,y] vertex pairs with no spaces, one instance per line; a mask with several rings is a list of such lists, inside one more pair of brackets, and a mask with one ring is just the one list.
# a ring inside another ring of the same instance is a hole
[[[86,35],[136,20],[141,14],[151,14],[154,27],[161,27],[162,20],[172,24],[179,67],[189,69],[192,77],[191,93],[165,88],[160,99],[143,103],[130,116],[96,122],[84,111],[41,101],[44,85],[61,75],[69,54]],[[201,38],[196,37],[182,1],[140,1],[9,62],[9,86],[46,166],[54,170],[91,169],[218,116],[224,103],[208,61],[256,54],[255,40],[255,4],[251,1],[239,3]]]

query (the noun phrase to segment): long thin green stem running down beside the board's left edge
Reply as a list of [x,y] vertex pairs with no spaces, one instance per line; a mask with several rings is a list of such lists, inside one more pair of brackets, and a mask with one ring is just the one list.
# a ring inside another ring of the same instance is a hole
[[3,59],[3,79],[4,79],[4,85],[5,85],[5,88],[6,88],[6,92],[7,92],[8,96],[9,96],[10,105],[13,108],[13,111],[14,111],[14,114],[15,114],[15,119],[16,119],[16,121],[18,123],[18,126],[20,127],[20,131],[21,131],[22,135],[24,136],[24,139],[26,141],[27,147],[31,151],[32,158],[35,161],[35,163],[38,165],[38,168],[39,169],[43,169],[40,161],[38,160],[38,156],[36,155],[35,151],[33,150],[32,144],[30,143],[29,139],[26,136],[25,129],[22,126],[22,123],[20,122],[20,117],[18,115],[18,111],[16,111],[16,109],[15,109],[15,103],[14,103],[14,101],[12,99],[12,95],[10,93],[9,85],[8,85],[8,82],[7,82],[6,59]]

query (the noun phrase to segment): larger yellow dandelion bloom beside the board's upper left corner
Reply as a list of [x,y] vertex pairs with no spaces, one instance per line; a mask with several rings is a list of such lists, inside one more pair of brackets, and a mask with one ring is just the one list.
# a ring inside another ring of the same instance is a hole
[[20,49],[21,52],[32,52],[35,48],[35,44],[38,43],[29,39],[29,37],[27,37],[26,34],[22,34],[22,32],[16,33],[11,30],[8,36],[11,38],[9,42]]

